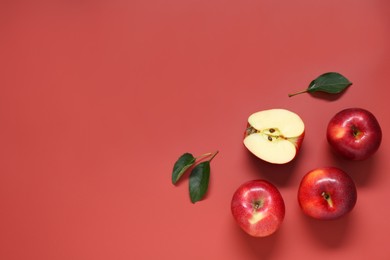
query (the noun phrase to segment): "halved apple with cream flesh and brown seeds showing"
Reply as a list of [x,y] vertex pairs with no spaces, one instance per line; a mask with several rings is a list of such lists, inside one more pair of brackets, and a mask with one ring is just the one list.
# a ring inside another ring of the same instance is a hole
[[302,119],[286,109],[269,109],[249,116],[244,145],[260,159],[284,164],[295,158],[305,135]]

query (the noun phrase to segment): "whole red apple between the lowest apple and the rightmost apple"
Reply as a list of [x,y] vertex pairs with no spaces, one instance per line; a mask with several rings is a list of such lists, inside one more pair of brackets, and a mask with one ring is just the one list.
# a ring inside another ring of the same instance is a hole
[[354,181],[336,167],[308,172],[298,189],[298,202],[303,212],[319,220],[334,220],[346,215],[355,207],[356,201]]

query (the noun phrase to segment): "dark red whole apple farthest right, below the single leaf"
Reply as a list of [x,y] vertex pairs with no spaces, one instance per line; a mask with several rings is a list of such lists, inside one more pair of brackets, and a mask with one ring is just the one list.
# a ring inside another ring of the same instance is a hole
[[335,153],[360,161],[378,150],[382,130],[371,112],[362,108],[347,108],[329,121],[326,136]]

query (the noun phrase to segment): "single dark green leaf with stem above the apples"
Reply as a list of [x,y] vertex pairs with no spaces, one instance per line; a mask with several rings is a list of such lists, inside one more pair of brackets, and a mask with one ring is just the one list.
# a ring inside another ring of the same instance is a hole
[[320,75],[312,82],[310,82],[309,87],[306,90],[294,94],[289,94],[288,96],[292,97],[305,92],[313,93],[317,91],[338,94],[344,91],[350,85],[352,85],[352,82],[350,82],[340,73],[328,72]]

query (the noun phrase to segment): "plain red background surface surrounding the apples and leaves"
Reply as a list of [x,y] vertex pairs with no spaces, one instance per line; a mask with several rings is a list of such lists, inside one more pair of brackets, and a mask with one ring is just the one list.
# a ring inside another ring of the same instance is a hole
[[[1,259],[390,259],[386,135],[390,2],[1,1]],[[309,94],[318,75],[353,82]],[[249,114],[286,108],[306,123],[292,163],[270,165],[242,144]],[[332,154],[329,119],[347,107],[381,123],[375,156]],[[184,152],[219,150],[210,189],[193,205]],[[338,166],[356,181],[347,217],[303,216],[302,176]],[[230,200],[264,178],[286,203],[274,235],[234,223]]]

